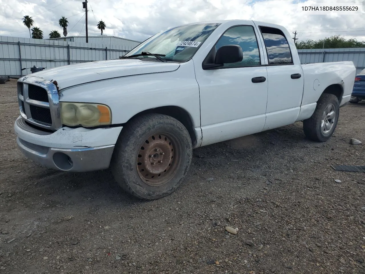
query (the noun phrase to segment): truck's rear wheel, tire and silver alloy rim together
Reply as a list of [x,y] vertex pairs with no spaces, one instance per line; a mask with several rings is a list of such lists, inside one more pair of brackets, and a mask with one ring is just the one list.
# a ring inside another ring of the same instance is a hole
[[339,117],[338,99],[333,94],[322,94],[312,116],[303,121],[303,130],[307,138],[327,141],[335,131]]

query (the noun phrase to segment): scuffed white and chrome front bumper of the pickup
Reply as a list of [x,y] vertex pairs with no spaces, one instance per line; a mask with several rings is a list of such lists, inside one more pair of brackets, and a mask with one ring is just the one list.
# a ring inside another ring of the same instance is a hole
[[107,169],[122,127],[61,128],[46,132],[29,126],[22,117],[14,123],[20,151],[32,161],[61,171]]

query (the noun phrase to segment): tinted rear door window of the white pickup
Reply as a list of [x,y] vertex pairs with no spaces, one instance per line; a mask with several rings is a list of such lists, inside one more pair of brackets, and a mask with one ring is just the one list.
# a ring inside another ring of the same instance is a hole
[[287,38],[277,28],[260,27],[264,38],[269,65],[293,64]]

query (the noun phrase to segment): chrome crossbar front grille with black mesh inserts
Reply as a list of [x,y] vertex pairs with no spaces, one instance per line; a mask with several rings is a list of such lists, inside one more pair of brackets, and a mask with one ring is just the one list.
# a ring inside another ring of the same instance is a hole
[[61,128],[58,91],[50,81],[34,76],[20,78],[18,102],[20,115],[28,123],[54,131]]

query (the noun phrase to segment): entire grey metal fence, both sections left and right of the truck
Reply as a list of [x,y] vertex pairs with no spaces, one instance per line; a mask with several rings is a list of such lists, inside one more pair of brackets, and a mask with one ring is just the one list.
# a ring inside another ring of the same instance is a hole
[[[33,65],[43,68],[80,62],[117,59],[139,42],[127,40],[123,45],[30,39],[0,36],[0,75],[27,75]],[[365,68],[365,48],[301,49],[301,63],[353,61],[356,73]]]

